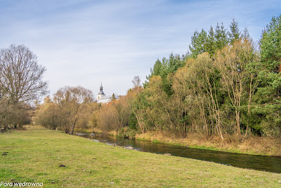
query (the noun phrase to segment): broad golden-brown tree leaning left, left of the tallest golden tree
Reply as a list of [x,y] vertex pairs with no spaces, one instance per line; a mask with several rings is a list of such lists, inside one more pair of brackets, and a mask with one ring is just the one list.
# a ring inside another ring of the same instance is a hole
[[196,59],[189,59],[187,65],[178,70],[174,77],[174,90],[175,94],[184,99],[185,111],[190,115],[191,124],[196,125],[194,130],[199,130],[203,125],[203,130],[207,134],[211,133],[213,123],[211,121],[209,125],[209,114],[209,119],[215,120],[214,129],[223,139],[221,109],[216,94],[216,75],[209,54],[203,53]]

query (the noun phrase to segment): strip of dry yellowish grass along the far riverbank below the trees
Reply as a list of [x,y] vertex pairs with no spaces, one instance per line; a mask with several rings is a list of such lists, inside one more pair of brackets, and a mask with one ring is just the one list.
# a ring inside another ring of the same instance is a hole
[[136,139],[189,146],[198,149],[281,156],[281,139],[270,137],[247,137],[245,139],[239,139],[226,135],[222,141],[220,137],[213,136],[206,138],[202,134],[195,133],[189,133],[187,137],[181,138],[167,132],[145,132],[144,134],[137,134]]

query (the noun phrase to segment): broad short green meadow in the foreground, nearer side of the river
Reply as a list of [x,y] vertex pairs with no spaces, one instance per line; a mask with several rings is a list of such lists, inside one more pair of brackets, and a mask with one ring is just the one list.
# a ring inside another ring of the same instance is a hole
[[280,187],[281,174],[108,146],[28,127],[0,134],[0,182],[44,187]]

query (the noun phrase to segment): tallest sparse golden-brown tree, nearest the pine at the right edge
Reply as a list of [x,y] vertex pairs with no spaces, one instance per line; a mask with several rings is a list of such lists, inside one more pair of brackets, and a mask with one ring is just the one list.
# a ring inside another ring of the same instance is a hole
[[[257,61],[257,56],[251,41],[238,40],[232,46],[226,46],[216,54],[215,65],[221,73],[221,81],[223,87],[227,90],[231,104],[235,108],[237,133],[240,132],[240,108],[242,103],[242,96],[247,93],[248,84],[249,99],[248,99],[248,113],[250,111],[251,96],[256,89],[253,76],[256,70],[249,70],[249,65]],[[248,125],[247,125],[248,129]]]

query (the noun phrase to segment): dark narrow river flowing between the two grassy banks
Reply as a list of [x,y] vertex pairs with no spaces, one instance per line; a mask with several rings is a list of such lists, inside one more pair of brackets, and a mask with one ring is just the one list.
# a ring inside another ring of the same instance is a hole
[[232,165],[238,168],[249,168],[272,173],[281,173],[281,157],[256,156],[207,149],[193,149],[185,146],[175,146],[171,144],[161,144],[150,141],[112,137],[105,134],[96,134],[91,136],[89,134],[77,133],[77,135],[79,137],[93,139],[96,142],[117,144],[118,146],[132,146],[133,149],[138,151],[159,154],[170,153],[172,156],[194,158],[202,161],[212,161],[214,163]]

